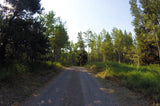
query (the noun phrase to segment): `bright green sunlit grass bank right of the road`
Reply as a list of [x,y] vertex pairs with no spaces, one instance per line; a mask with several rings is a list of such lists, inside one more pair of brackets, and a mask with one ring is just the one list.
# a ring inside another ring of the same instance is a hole
[[109,79],[127,88],[140,92],[153,103],[160,102],[160,67],[149,65],[136,67],[134,65],[98,62],[86,65],[96,76]]

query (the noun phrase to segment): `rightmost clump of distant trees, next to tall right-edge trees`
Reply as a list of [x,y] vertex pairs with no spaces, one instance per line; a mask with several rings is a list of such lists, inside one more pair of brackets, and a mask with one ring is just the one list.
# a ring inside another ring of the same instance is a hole
[[117,28],[113,28],[112,36],[114,41],[115,53],[118,56],[118,62],[133,63],[132,62],[132,49],[133,49],[133,38],[131,33],[127,33],[126,30],[123,32]]

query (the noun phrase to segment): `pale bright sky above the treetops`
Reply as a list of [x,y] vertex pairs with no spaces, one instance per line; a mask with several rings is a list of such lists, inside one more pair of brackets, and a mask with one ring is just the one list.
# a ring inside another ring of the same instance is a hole
[[41,0],[45,11],[53,10],[66,21],[70,40],[77,41],[80,31],[102,29],[111,32],[113,27],[134,32],[129,0]]

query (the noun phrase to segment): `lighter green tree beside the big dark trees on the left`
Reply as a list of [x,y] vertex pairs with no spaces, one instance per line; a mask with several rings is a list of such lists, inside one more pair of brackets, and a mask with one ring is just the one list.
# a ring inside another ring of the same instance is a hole
[[[46,55],[48,60],[52,61],[64,61],[63,50],[68,46],[68,34],[65,29],[65,24],[62,23],[60,18],[55,17],[55,13],[50,11],[43,13],[39,16],[39,20],[42,26],[45,28],[44,35],[49,40],[49,53]],[[61,58],[62,57],[62,58]]]

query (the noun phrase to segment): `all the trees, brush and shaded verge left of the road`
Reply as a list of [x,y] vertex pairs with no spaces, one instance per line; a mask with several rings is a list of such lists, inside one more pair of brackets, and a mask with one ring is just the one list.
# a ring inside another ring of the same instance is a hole
[[62,70],[69,37],[60,17],[44,12],[40,0],[4,0],[0,13],[0,105],[10,106]]

